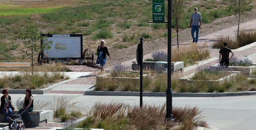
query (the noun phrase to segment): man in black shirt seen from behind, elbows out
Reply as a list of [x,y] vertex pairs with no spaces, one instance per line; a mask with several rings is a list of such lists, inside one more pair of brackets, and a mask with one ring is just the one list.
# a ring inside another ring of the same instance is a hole
[[[232,53],[232,56],[229,58],[229,53]],[[219,50],[219,63],[220,65],[225,65],[225,67],[229,66],[229,59],[234,56],[234,52],[227,48],[227,43],[223,43],[223,48]]]

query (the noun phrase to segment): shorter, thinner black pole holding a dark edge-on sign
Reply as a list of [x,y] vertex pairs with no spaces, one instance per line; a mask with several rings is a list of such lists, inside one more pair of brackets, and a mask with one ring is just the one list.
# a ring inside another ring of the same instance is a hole
[[141,76],[140,76],[140,106],[142,106],[142,89],[143,89],[143,38],[141,37],[141,59],[140,59],[140,72],[141,72]]

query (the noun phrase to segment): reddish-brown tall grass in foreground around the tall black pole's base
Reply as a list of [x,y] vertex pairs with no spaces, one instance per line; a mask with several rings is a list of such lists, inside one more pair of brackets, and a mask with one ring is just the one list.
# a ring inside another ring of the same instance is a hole
[[[179,130],[192,130],[196,126],[209,128],[198,107],[173,107],[173,118]],[[96,102],[87,119],[79,128],[103,128],[104,130],[169,130],[175,123],[166,121],[166,104],[130,106],[123,102]]]

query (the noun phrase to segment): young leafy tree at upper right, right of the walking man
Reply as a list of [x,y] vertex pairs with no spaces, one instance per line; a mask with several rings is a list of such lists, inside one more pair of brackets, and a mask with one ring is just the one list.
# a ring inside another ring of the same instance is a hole
[[249,4],[252,3],[252,0],[228,0],[230,2],[229,9],[233,11],[235,18],[238,19],[238,28],[237,28],[237,40],[239,39],[239,24],[240,19],[248,17]]

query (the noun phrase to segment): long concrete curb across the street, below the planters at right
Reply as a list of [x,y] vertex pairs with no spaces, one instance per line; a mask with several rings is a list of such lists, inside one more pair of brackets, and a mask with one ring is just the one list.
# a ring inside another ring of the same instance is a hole
[[[121,92],[121,91],[85,91],[84,95],[95,96],[140,96],[140,92]],[[143,92],[146,97],[166,97],[166,93]],[[250,96],[256,95],[256,91],[235,92],[235,93],[173,93],[172,97],[231,97],[231,96]]]

